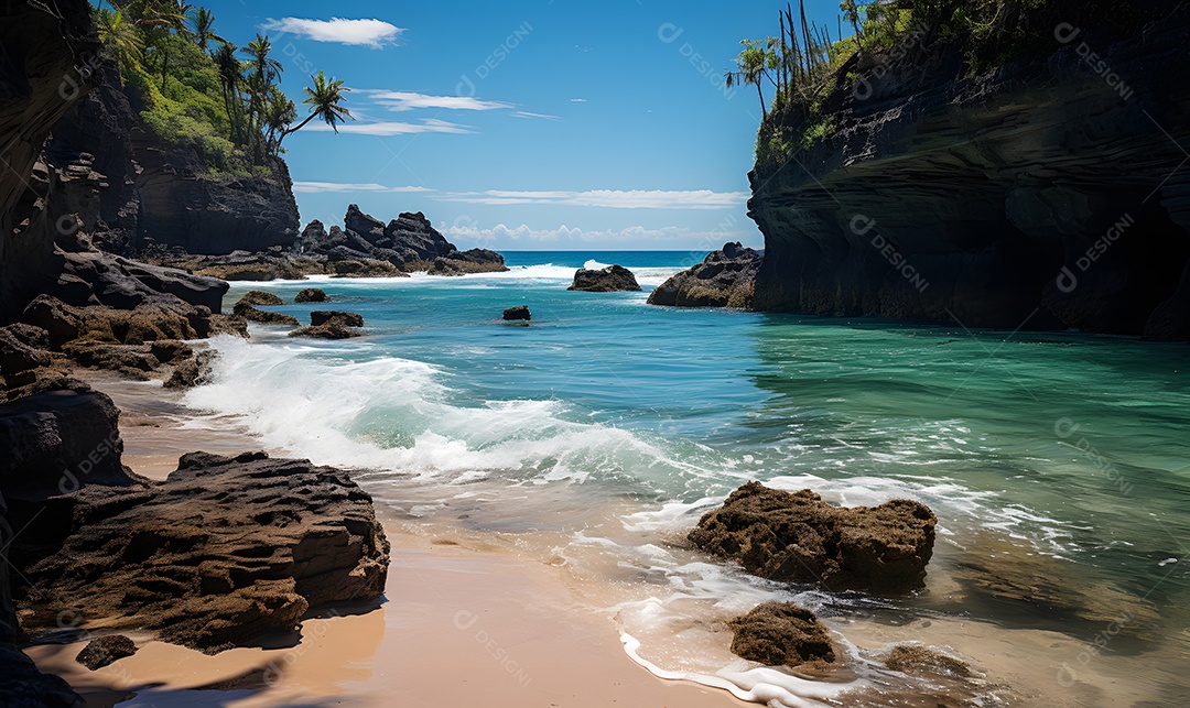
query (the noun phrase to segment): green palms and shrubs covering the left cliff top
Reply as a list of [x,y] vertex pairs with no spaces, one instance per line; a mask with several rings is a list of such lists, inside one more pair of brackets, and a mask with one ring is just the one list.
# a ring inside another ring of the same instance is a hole
[[109,0],[93,11],[140,119],[161,138],[193,148],[213,173],[275,171],[287,136],[315,119],[338,132],[351,119],[343,81],[311,76],[299,111],[281,88],[284,65],[269,37],[258,33],[239,48],[218,33],[205,7]]

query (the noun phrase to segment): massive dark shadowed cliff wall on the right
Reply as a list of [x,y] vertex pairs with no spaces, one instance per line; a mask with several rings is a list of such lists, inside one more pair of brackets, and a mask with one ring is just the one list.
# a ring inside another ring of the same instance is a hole
[[933,29],[852,57],[750,175],[756,307],[1190,339],[1190,11],[1142,5],[975,76]]

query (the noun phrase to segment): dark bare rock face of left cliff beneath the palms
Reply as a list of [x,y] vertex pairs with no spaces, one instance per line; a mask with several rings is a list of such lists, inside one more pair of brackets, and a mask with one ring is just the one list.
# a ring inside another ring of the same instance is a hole
[[96,87],[54,125],[46,162],[84,163],[95,187],[71,205],[105,251],[125,256],[175,246],[225,255],[289,246],[298,202],[286,164],[252,176],[212,173],[190,148],[163,140],[140,121],[134,89],[115,64],[96,64]]

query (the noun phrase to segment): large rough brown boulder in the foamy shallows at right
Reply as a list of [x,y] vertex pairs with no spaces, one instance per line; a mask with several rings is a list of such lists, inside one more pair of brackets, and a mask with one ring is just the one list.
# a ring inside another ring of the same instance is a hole
[[923,584],[937,522],[915,501],[840,508],[809,489],[789,493],[749,482],[704,514],[689,539],[770,579],[832,591],[904,593]]

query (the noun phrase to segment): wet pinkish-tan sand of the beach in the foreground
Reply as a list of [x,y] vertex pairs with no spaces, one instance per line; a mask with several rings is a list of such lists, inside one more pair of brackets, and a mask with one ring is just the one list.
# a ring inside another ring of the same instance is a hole
[[[93,372],[84,380],[120,408],[124,463],[151,480],[164,480],[184,452],[261,447],[233,427],[187,427],[180,394],[159,383]],[[613,624],[577,609],[562,569],[459,534],[418,533],[386,505],[376,512],[393,545],[386,601],[324,608],[302,622],[298,644],[269,637],[206,656],[130,632],[140,651],[94,672],[74,660],[87,641],[26,653],[99,706],[127,700],[134,688],[143,689],[138,703],[209,704],[209,691],[219,691],[220,701],[244,708],[344,697],[384,706],[394,693],[425,706],[750,704],[726,690],[658,678],[634,663]]]

